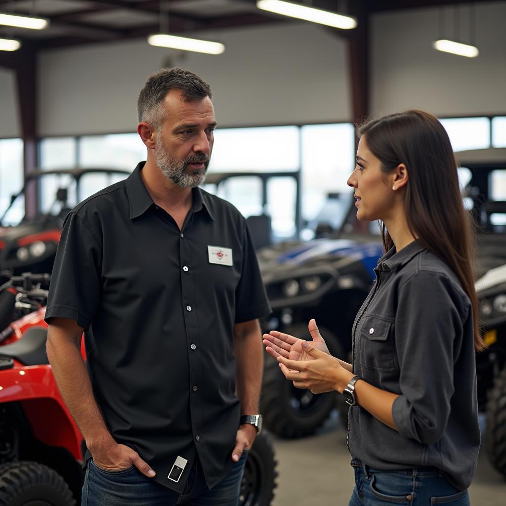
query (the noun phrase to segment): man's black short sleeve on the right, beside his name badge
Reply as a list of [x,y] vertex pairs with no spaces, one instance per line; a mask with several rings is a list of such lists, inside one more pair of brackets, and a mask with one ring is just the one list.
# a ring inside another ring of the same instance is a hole
[[260,275],[253,241],[245,222],[242,251],[241,278],[235,290],[235,323],[261,318],[272,312]]

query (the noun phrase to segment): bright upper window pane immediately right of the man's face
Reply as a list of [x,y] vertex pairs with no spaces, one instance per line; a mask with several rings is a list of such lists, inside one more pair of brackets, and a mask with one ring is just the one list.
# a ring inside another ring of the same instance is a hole
[[299,128],[217,129],[209,172],[298,171]]

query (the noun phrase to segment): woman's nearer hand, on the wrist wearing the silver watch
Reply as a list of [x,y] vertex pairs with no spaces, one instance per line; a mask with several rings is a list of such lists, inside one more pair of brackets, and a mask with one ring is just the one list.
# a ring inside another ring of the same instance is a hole
[[[334,357],[317,350],[310,343],[301,343],[302,360],[291,360],[281,354],[277,357],[281,371],[296,388],[307,388],[313,394],[346,388],[353,373],[345,369]],[[307,357],[307,358],[306,358]]]

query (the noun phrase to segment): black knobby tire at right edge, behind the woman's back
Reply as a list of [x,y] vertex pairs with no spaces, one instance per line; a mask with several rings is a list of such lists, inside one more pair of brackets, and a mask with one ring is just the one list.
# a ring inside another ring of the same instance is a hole
[[506,477],[506,368],[497,374],[489,392],[486,440],[492,466]]

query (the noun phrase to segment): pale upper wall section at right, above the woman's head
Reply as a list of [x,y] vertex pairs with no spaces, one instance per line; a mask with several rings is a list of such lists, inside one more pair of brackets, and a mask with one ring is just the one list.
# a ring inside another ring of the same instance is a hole
[[[459,10],[467,41],[468,8]],[[445,9],[447,38],[452,10]],[[506,113],[506,2],[476,4],[478,58],[441,53],[437,9],[372,18],[371,112],[422,108],[440,116]]]

